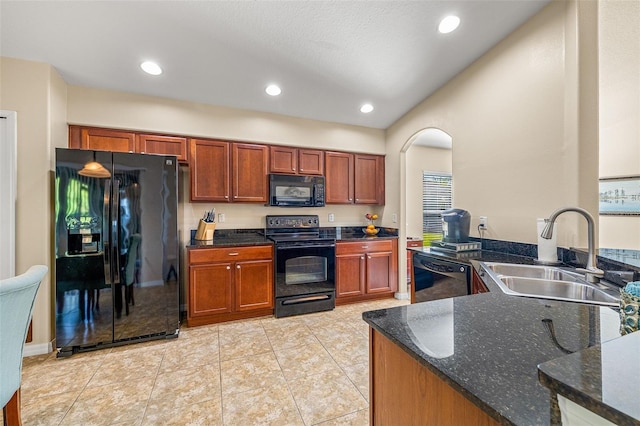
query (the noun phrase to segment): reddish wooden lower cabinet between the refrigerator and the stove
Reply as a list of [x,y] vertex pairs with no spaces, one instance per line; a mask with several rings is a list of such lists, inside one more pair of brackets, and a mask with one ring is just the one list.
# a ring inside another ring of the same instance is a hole
[[273,247],[189,249],[187,324],[273,314]]

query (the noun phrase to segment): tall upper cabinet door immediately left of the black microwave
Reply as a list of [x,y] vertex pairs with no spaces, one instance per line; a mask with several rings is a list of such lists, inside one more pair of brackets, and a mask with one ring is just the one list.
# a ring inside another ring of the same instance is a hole
[[231,186],[233,201],[268,201],[269,150],[266,145],[233,144]]

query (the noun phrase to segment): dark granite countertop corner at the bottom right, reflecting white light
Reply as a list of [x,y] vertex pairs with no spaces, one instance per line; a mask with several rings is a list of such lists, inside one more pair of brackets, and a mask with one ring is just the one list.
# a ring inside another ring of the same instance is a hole
[[538,366],[540,381],[557,394],[617,425],[640,425],[637,374],[640,332]]

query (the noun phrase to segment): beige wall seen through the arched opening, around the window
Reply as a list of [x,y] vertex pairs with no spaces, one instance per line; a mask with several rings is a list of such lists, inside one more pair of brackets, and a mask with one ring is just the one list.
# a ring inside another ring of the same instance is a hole
[[[454,142],[455,143],[455,142]],[[451,150],[411,146],[407,152],[407,236],[422,239],[422,172],[451,173]]]

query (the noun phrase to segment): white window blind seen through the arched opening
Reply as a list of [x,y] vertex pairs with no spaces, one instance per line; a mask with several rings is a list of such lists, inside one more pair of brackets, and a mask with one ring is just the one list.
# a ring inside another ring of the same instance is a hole
[[422,232],[425,240],[442,238],[440,213],[452,206],[451,186],[449,173],[422,172]]

